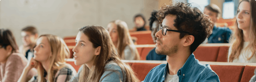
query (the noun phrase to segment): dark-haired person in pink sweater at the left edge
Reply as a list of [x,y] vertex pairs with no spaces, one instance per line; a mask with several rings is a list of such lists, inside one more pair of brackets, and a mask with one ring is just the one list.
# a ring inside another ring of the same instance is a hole
[[[17,82],[28,60],[18,52],[18,45],[12,32],[0,29],[0,81]],[[36,69],[31,69],[24,77],[27,82],[36,75]]]

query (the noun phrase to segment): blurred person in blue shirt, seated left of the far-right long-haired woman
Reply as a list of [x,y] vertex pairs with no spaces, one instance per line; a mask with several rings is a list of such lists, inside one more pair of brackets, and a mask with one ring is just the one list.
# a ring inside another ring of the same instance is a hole
[[204,14],[211,17],[214,23],[213,33],[203,43],[228,43],[232,31],[227,27],[216,27],[217,20],[221,14],[220,8],[216,4],[205,6]]

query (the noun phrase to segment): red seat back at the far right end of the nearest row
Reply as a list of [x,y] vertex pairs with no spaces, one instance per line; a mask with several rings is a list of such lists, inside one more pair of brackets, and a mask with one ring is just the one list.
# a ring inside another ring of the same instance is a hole
[[240,82],[249,82],[254,75],[256,66],[246,65]]

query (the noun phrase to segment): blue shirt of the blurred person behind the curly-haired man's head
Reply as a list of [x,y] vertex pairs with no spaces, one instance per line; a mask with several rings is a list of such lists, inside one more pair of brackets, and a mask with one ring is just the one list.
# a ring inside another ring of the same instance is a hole
[[228,43],[232,31],[229,28],[213,27],[213,33],[208,37],[208,43]]

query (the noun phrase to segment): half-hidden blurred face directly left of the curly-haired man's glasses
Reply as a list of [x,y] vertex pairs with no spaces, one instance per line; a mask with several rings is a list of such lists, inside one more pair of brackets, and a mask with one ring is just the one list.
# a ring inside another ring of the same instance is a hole
[[159,26],[159,22],[158,21],[154,21],[152,24],[152,28],[151,28],[151,37],[152,40],[154,41],[154,43],[156,43],[156,32],[158,31],[158,26]]

